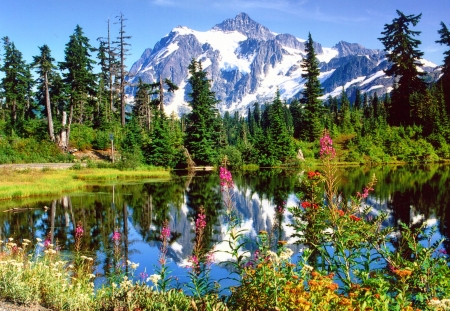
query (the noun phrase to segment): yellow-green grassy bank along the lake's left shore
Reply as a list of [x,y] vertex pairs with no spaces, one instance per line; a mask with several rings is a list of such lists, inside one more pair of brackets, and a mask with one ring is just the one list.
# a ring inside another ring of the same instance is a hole
[[119,179],[170,178],[164,169],[145,168],[121,171],[107,168],[86,168],[79,170],[0,170],[0,200],[58,195],[84,187],[95,182]]

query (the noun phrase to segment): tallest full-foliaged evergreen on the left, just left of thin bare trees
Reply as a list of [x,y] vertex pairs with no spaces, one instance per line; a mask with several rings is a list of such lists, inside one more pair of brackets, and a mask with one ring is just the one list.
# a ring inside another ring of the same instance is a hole
[[77,25],[66,44],[65,61],[59,63],[61,70],[65,71],[63,81],[68,85],[70,96],[67,144],[71,124],[74,121],[84,123],[85,119],[92,119],[92,109],[88,104],[89,98],[95,94],[95,75],[92,72],[95,62],[90,58],[93,50],[83,29]]

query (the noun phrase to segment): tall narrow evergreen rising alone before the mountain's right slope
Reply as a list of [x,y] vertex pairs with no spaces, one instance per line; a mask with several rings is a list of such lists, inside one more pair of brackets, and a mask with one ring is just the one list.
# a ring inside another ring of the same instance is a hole
[[322,135],[322,124],[320,121],[322,102],[319,99],[322,95],[322,88],[319,81],[319,60],[316,58],[311,33],[308,34],[305,52],[306,57],[303,59],[301,67],[306,71],[306,73],[302,74],[302,78],[306,79],[306,82],[300,102],[305,109],[304,124],[307,131],[307,139],[315,141]]

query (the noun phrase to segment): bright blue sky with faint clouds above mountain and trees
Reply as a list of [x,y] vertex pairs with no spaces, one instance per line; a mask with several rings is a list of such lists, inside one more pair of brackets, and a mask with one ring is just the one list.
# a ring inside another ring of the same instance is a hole
[[77,24],[91,45],[98,46],[96,39],[107,35],[108,18],[111,33],[117,36],[113,22],[122,12],[127,35],[132,36],[128,67],[178,25],[206,31],[240,12],[277,33],[305,39],[311,32],[324,47],[344,40],[380,49],[377,38],[384,25],[397,17],[397,9],[422,13],[414,28],[422,32],[420,50],[438,65],[448,47],[435,43],[437,31],[441,21],[450,27],[449,0],[0,0],[0,7],[0,37],[8,36],[27,62],[43,44],[50,47],[56,61],[63,61],[65,44]]

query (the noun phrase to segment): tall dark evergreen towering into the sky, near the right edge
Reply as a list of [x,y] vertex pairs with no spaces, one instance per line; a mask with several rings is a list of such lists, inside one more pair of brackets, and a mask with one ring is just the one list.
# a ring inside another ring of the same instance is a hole
[[425,73],[419,71],[422,66],[419,60],[423,52],[417,48],[421,41],[414,38],[420,31],[410,29],[410,25],[417,25],[422,14],[405,15],[399,10],[397,14],[398,18],[384,26],[381,33],[384,36],[379,40],[383,43],[386,57],[392,64],[385,72],[388,76],[393,76],[397,83],[391,94],[390,120],[394,125],[410,125],[416,121],[416,108],[411,105],[410,96],[415,92],[423,94],[426,90],[422,79]]

